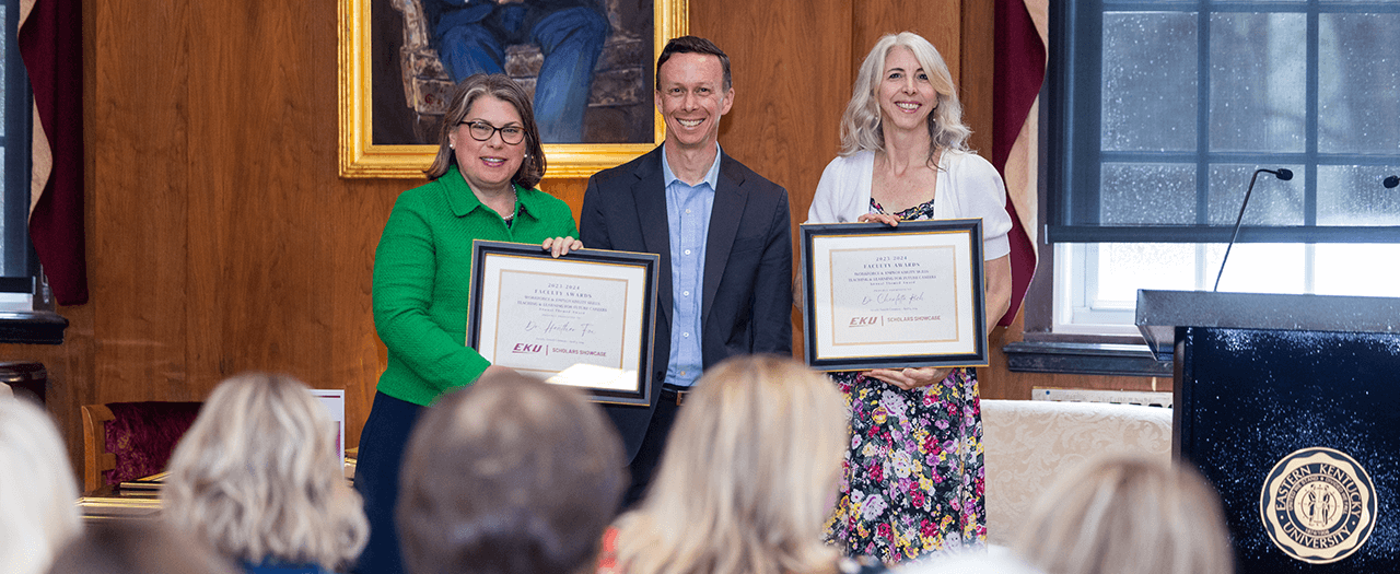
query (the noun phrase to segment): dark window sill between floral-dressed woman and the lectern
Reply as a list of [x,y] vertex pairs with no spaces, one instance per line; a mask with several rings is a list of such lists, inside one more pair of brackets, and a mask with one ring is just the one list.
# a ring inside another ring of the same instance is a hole
[[[1029,333],[1028,333],[1029,335]],[[1172,361],[1159,361],[1145,343],[1023,340],[1007,343],[1007,368],[1015,372],[1056,372],[1113,377],[1172,377]],[[1109,339],[1114,340],[1114,339]]]

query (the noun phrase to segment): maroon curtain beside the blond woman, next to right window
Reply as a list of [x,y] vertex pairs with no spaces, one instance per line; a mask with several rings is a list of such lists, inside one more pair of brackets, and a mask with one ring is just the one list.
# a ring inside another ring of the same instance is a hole
[[[1030,105],[1040,94],[1046,76],[1046,46],[1026,11],[1025,0],[997,0],[997,52],[993,80],[991,164],[1007,176],[1007,158],[1021,127],[1030,115]],[[1016,206],[1007,197],[1011,213],[1011,308],[1000,325],[1011,325],[1021,311],[1026,287],[1036,272],[1036,251],[1021,225]]]

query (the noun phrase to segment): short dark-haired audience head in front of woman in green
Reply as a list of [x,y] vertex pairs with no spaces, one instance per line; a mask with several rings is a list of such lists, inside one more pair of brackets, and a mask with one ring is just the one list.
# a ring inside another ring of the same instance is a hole
[[413,430],[398,525],[413,574],[592,571],[627,486],[617,431],[577,391],[518,374],[444,396]]

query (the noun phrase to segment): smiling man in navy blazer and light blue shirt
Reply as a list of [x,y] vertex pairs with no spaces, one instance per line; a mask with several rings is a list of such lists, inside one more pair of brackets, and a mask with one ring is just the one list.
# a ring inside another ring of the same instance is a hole
[[657,59],[665,143],[598,172],[584,193],[584,246],[661,255],[651,406],[608,407],[627,447],[627,505],[651,482],[700,371],[792,353],[787,190],[720,150],[732,104],[729,57],[703,38],[671,41]]

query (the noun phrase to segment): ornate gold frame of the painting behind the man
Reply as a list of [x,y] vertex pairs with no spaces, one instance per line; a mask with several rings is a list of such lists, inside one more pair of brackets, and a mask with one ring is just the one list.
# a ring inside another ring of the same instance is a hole
[[[437,146],[375,144],[372,141],[371,62],[374,46],[371,45],[372,22],[370,15],[372,1],[382,0],[337,0],[340,24],[337,41],[340,176],[423,178],[423,169],[433,162]],[[654,66],[666,41],[687,34],[687,0],[654,0],[652,57],[647,66]],[[643,88],[651,91],[650,85]],[[665,122],[659,112],[652,111],[652,140],[647,143],[545,144],[549,176],[588,176],[651,151],[665,139]]]

